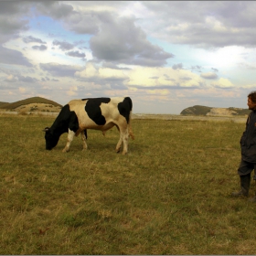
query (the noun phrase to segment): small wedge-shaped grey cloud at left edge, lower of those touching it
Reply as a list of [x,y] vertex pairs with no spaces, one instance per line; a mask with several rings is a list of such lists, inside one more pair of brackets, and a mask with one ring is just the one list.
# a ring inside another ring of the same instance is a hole
[[33,67],[20,51],[0,46],[0,63]]

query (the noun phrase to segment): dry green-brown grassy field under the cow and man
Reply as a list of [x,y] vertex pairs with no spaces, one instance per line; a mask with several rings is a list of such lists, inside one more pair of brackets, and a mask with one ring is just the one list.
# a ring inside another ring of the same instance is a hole
[[[46,116],[0,116],[0,254],[254,254],[255,210],[239,189],[244,123],[133,120],[52,151]],[[251,182],[251,196],[254,185]]]

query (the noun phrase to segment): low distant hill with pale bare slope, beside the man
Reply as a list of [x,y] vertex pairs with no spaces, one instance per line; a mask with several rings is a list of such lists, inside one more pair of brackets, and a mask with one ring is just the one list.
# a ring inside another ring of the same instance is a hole
[[248,115],[251,111],[240,108],[211,108],[206,106],[195,105],[189,107],[180,114],[182,115],[209,115],[209,116],[234,116],[234,115]]

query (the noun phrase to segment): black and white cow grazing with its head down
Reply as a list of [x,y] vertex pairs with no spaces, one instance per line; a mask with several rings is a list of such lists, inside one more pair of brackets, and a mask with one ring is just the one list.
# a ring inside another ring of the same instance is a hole
[[74,138],[81,134],[83,149],[87,149],[86,129],[101,130],[106,133],[113,126],[120,132],[116,152],[123,143],[123,155],[128,151],[129,135],[134,139],[131,127],[133,102],[129,97],[89,98],[72,100],[59,112],[50,128],[45,128],[46,149],[51,150],[59,142],[62,133],[68,134],[68,142],[62,152],[68,152]]

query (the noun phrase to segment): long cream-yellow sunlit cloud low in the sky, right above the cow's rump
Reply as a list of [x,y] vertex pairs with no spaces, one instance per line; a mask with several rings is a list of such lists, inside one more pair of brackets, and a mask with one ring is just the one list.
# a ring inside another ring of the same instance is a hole
[[111,88],[136,88],[140,90],[172,90],[201,88],[205,83],[196,74],[185,69],[136,67],[133,69],[102,68],[87,63],[86,69],[77,71],[75,77],[95,81]]

